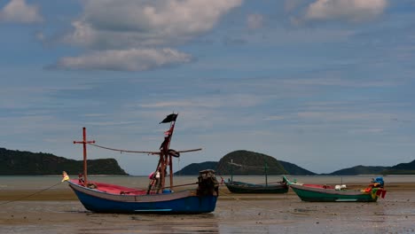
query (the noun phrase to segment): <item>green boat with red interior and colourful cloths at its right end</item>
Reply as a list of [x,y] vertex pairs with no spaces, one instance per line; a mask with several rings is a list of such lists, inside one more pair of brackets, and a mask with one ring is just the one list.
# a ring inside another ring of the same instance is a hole
[[384,199],[387,192],[383,188],[384,182],[382,177],[372,180],[372,183],[362,190],[349,190],[345,184],[332,186],[290,182],[286,176],[284,176],[284,180],[303,201],[375,202],[379,197]]

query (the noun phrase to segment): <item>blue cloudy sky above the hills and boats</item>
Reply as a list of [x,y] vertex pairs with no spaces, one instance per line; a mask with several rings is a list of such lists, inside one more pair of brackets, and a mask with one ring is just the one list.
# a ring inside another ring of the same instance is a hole
[[0,28],[6,149],[82,160],[85,127],[157,151],[174,112],[170,147],[203,149],[174,171],[236,150],[315,173],[415,160],[412,0],[0,0]]

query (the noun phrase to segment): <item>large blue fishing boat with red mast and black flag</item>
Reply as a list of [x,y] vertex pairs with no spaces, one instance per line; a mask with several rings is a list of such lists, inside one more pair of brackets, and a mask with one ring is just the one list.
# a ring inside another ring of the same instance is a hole
[[[179,157],[181,152],[195,152],[201,149],[175,151],[169,149],[169,144],[175,129],[177,113],[169,114],[161,123],[169,122],[170,128],[165,132],[160,151],[141,152],[114,149],[95,144],[86,140],[86,130],[83,128],[83,140],[74,144],[83,144],[83,174],[78,179],[69,179],[64,172],[63,181],[67,181],[83,207],[97,213],[161,213],[161,214],[200,214],[215,210],[218,197],[218,183],[215,171],[211,169],[200,171],[198,181],[191,184],[197,188],[173,191],[182,186],[173,184],[172,157]],[[146,189],[129,188],[110,183],[89,181],[87,177],[86,145],[93,145],[106,150],[118,152],[147,153],[158,156],[159,162],[154,173],[149,176],[150,183]],[[169,186],[165,179],[168,176]]]

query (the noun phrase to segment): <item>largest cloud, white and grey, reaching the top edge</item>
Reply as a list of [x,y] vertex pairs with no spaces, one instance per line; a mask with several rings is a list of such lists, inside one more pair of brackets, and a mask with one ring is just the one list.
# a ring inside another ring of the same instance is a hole
[[73,22],[67,43],[88,48],[131,48],[184,43],[212,29],[241,0],[90,0]]

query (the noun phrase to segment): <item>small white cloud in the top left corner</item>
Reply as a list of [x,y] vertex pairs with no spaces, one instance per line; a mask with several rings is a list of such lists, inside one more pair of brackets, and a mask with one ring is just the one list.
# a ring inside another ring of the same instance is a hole
[[28,5],[25,0],[12,0],[0,10],[0,22],[36,23],[42,22],[35,5]]

